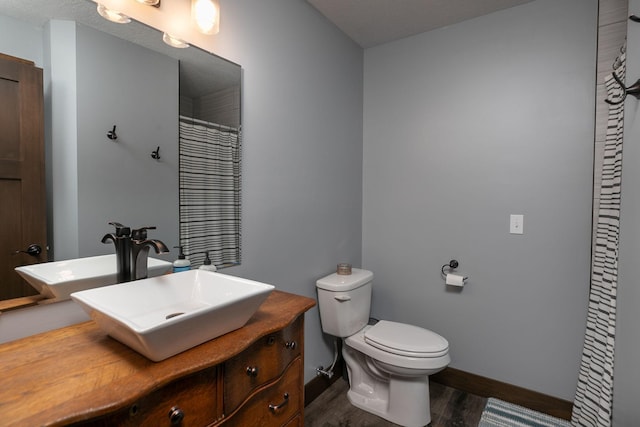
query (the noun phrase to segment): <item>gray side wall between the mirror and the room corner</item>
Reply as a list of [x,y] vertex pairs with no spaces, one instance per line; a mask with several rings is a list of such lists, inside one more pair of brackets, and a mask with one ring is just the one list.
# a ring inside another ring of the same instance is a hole
[[[243,68],[242,265],[225,270],[315,298],[361,263],[362,49],[302,0],[234,0],[216,53]],[[305,379],[331,363],[317,308]]]

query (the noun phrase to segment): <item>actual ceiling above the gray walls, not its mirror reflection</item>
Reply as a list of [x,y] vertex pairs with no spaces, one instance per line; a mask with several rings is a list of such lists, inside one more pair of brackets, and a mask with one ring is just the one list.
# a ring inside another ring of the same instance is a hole
[[363,48],[533,0],[307,0]]

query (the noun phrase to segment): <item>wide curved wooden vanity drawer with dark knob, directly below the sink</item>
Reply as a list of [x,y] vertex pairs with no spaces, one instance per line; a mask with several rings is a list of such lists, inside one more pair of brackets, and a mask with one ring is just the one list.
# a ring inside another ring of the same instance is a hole
[[[80,425],[189,427],[212,424],[222,417],[218,373],[217,367],[213,367],[181,378],[127,408]],[[172,424],[179,418],[181,423]]]

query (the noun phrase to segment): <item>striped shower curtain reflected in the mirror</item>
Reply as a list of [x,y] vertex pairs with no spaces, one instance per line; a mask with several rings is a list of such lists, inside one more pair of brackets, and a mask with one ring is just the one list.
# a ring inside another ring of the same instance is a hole
[[180,116],[180,245],[199,266],[240,264],[240,132]]

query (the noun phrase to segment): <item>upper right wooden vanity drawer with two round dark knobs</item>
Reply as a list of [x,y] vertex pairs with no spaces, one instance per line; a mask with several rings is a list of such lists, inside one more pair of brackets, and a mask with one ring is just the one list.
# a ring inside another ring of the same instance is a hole
[[302,318],[260,338],[224,364],[224,413],[230,414],[249,394],[282,374],[302,354]]

